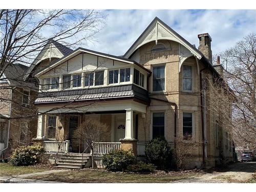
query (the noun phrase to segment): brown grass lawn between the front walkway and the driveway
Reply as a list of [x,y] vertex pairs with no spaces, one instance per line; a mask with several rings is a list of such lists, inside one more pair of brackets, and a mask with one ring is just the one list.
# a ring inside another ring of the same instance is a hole
[[70,172],[54,173],[45,176],[28,177],[45,181],[58,181],[67,183],[168,183],[180,179],[198,176],[198,172],[169,172],[154,174],[112,173],[100,169],[80,169]]

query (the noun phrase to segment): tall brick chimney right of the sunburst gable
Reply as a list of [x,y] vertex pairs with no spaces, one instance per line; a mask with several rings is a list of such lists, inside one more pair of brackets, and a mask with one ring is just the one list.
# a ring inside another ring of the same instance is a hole
[[212,53],[211,53],[211,37],[208,33],[203,33],[197,35],[199,38],[199,47],[198,50],[201,51],[204,56],[212,63]]

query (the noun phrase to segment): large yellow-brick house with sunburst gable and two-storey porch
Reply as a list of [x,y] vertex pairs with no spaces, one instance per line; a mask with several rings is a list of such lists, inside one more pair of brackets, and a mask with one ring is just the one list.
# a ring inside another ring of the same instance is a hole
[[[94,154],[123,148],[143,156],[154,138],[165,137],[174,146],[176,137],[186,142],[189,135],[200,144],[187,167],[232,161],[232,138],[219,120],[221,113],[207,110],[217,103],[211,102],[207,90],[214,88],[205,76],[220,80],[223,68],[212,63],[210,35],[198,38],[197,49],[156,17],[123,56],[78,48],[51,62],[35,74],[39,116],[34,141],[48,153],[59,148],[73,159],[83,158],[85,145],[74,131],[92,118],[111,133]],[[71,159],[58,165],[71,167]]]

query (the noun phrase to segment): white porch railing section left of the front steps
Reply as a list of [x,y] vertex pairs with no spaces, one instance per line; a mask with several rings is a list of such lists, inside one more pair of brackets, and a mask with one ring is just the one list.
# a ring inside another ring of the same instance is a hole
[[69,152],[69,141],[43,141],[42,146],[46,152]]

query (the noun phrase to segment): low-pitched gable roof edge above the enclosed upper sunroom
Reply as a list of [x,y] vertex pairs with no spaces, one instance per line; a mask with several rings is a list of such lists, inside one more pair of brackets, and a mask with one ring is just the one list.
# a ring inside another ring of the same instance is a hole
[[46,69],[42,69],[41,71],[39,71],[36,74],[36,76],[42,75],[42,74],[50,71],[51,69],[57,67],[58,65],[61,65],[61,63],[66,62],[67,60],[75,57],[76,55],[79,55],[80,53],[89,53],[89,54],[92,54],[92,55],[97,55],[97,56],[105,57],[105,58],[108,58],[108,59],[113,59],[113,60],[118,60],[118,61],[121,61],[121,62],[135,64],[136,66],[142,68],[147,73],[151,73],[150,70],[144,68],[142,65],[140,65],[139,63],[137,63],[136,61],[134,61],[132,59],[123,58],[123,57],[120,57],[120,56],[110,55],[110,54],[106,54],[106,53],[102,53],[102,52],[93,51],[93,50],[90,50],[90,49],[84,49],[84,48],[79,47],[76,50],[74,50],[73,52],[71,52],[70,54],[55,60],[53,63],[50,63],[50,65]]

